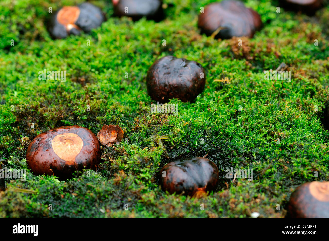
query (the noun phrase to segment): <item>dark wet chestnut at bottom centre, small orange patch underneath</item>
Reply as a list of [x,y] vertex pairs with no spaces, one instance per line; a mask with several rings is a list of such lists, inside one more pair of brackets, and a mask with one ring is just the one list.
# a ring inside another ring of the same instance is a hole
[[[165,177],[163,177],[165,171]],[[212,191],[218,183],[218,168],[209,159],[193,157],[175,160],[165,165],[160,172],[163,191],[193,196],[197,191]]]

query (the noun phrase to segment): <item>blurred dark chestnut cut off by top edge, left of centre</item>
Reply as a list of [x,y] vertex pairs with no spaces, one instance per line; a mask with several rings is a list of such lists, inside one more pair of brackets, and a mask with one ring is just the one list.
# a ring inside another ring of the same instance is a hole
[[161,21],[164,19],[164,10],[161,0],[112,0],[114,15],[131,17],[137,21],[142,17],[148,20]]

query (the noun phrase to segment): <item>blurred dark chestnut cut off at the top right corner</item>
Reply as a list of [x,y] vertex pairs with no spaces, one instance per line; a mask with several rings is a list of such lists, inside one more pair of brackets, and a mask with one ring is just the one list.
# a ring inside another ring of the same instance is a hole
[[284,8],[298,12],[305,12],[313,15],[316,10],[322,7],[323,0],[280,0]]

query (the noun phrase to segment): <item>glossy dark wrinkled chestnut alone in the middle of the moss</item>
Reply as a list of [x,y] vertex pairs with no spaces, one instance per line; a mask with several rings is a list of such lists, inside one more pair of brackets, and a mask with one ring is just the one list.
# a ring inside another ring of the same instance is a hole
[[[201,78],[201,73],[203,77]],[[159,103],[177,98],[193,101],[206,84],[205,69],[195,61],[165,56],[153,63],[146,76],[147,92]]]

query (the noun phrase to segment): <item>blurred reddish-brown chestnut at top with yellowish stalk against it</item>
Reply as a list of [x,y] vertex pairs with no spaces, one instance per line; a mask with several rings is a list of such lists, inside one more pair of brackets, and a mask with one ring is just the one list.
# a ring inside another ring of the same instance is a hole
[[240,1],[224,0],[207,5],[199,15],[201,33],[215,38],[228,39],[233,36],[254,36],[262,26],[257,12],[246,8]]

